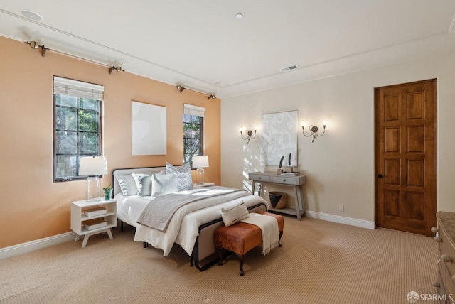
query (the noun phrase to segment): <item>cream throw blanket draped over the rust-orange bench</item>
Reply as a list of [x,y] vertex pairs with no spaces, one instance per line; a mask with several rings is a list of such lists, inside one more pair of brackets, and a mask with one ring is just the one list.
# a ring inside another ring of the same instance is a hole
[[278,221],[269,215],[259,215],[250,213],[250,217],[242,219],[240,222],[256,225],[262,232],[262,254],[268,254],[272,249],[279,245]]

